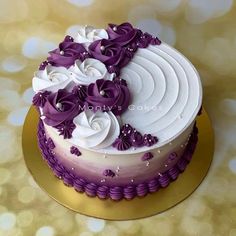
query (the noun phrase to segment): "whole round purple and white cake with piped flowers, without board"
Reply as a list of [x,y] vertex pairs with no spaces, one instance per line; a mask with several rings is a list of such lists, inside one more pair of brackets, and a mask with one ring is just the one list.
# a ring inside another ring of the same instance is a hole
[[49,52],[32,86],[42,156],[79,193],[144,197],[176,180],[192,158],[199,75],[130,23],[80,26]]

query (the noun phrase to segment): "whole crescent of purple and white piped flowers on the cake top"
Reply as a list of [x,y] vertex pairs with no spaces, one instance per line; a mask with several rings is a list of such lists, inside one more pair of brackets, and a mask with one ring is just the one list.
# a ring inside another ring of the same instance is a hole
[[150,44],[161,41],[130,23],[109,24],[106,30],[81,27],[75,38],[66,36],[33,78],[33,104],[40,108],[41,118],[65,139],[82,140],[90,148],[113,143],[118,150],[127,150],[156,143],[156,137],[142,136],[133,128],[126,136],[122,127],[119,135],[117,120],[131,101],[121,69],[138,48]]

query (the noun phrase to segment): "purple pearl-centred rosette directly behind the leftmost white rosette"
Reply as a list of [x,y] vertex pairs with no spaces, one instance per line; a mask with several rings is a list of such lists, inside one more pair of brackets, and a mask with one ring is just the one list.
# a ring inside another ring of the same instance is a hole
[[[77,59],[83,60],[88,52],[80,43],[75,43],[74,39],[66,36],[64,41],[59,44],[59,48],[49,52],[48,63],[52,66],[64,66],[69,68]],[[42,68],[44,65],[42,65]]]

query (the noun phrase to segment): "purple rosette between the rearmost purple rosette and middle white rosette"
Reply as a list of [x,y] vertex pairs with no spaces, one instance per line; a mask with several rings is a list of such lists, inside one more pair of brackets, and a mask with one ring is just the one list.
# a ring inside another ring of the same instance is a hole
[[130,58],[126,57],[125,48],[107,39],[97,40],[91,43],[89,53],[95,59],[103,62],[109,70],[113,68],[117,75],[119,74],[119,69],[127,65],[130,61]]

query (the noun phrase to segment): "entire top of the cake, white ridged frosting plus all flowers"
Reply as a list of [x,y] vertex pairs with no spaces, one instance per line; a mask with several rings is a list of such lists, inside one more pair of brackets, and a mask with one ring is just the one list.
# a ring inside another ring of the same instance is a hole
[[171,142],[202,102],[193,65],[129,23],[66,36],[35,72],[33,90],[44,123],[73,145],[107,153]]

